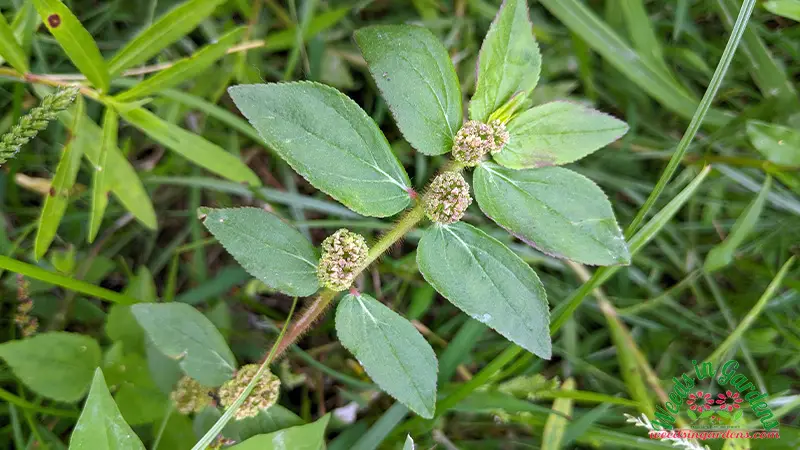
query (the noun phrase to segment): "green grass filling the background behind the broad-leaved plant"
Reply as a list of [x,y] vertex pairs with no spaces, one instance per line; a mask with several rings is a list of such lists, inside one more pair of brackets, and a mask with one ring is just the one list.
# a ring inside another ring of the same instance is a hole
[[[9,22],[22,3],[0,1]],[[179,2],[67,3],[103,55],[110,57],[138,29]],[[195,305],[223,330],[240,362],[258,360],[277,335],[291,299],[251,281],[208,238],[195,209],[262,206],[285,217],[316,243],[339,227],[374,238],[391,223],[360,217],[316,192],[259,143],[225,89],[239,83],[294,79],[318,80],[342,89],[380,125],[413,183],[421,188],[444,159],[415,154],[402,140],[352,32],[377,23],[411,22],[430,28],[450,51],[468,98],[480,42],[497,3],[229,0],[152,63],[190,55],[241,24],[249,26],[245,41],[254,43],[180,89],[156,95],[151,106],[162,119],[240,154],[264,187],[250,189],[217,179],[123,121],[120,147],[151,195],[158,230],[147,230],[112,200],[98,239],[87,245],[91,194],[85,187],[91,180],[84,162],[59,234],[40,265],[58,268],[59,257],[70,249],[77,255],[70,277],[128,292],[135,288],[131,284],[135,273],[149,273],[159,298]],[[544,60],[536,102],[592,102],[631,126],[623,140],[572,165],[603,188],[625,228],[653,191],[686,131],[723,54],[740,2],[530,3]],[[303,34],[307,39],[301,38]],[[31,72],[75,74],[44,27],[34,33],[29,49]],[[625,423],[623,413],[652,416],[654,405],[663,403],[659,389],[668,392],[673,376],[691,370],[693,360],[706,359],[725,342],[727,355],[742,362],[741,370],[770,393],[770,406],[783,416],[782,439],[753,441],[753,448],[799,448],[800,269],[789,267],[782,283],[767,298],[762,296],[798,250],[800,167],[767,161],[746,133],[751,120],[800,127],[798,60],[797,23],[757,6],[710,112],[652,212],[662,210],[707,164],[711,164],[709,174],[630,267],[616,271],[600,289],[585,292],[586,300],[554,336],[553,360],[509,352],[506,340],[437,296],[417,272],[412,233],[358,284],[416,320],[433,345],[440,360],[439,417],[419,420],[379,394],[337,343],[332,315],[274,366],[284,379],[280,403],[307,421],[338,411],[329,427],[329,448],[335,450],[400,448],[406,433],[414,436],[419,448],[540,448],[552,399],[564,395],[558,386],[571,377],[575,401],[567,414],[562,448],[671,448],[643,439],[645,431]],[[129,86],[137,79],[131,76],[114,85]],[[10,78],[0,83],[0,132],[4,132],[38,99],[32,84]],[[100,107],[93,102],[86,106],[99,121]],[[66,135],[62,124],[51,124],[0,169],[0,254],[32,261],[42,194]],[[800,153],[800,147],[794,151]],[[703,261],[709,250],[728,236],[768,175],[775,182],[752,232],[730,265],[706,273]],[[593,271],[513,242],[480,214],[468,214],[466,220],[509,244],[536,268],[551,309],[558,310]],[[0,279],[3,340],[15,334],[17,283],[13,273]],[[31,281],[30,295],[42,330],[66,329],[110,343],[103,330],[107,304],[37,281]],[[760,298],[763,304],[757,303]],[[732,334],[748,313],[755,314],[749,327]],[[0,445],[24,448],[41,440],[36,444],[40,447],[30,448],[63,448],[75,419],[44,409],[64,407],[69,412],[70,408],[43,403],[5,367],[0,369],[0,383],[17,397],[0,406]],[[563,402],[557,409],[565,411]],[[166,428],[159,448],[190,448],[197,440],[189,419],[172,415],[164,422],[163,414],[158,417],[153,424],[135,427],[146,444],[152,443],[162,423]],[[551,431],[548,438],[552,437]],[[721,442],[709,445],[719,448]]]

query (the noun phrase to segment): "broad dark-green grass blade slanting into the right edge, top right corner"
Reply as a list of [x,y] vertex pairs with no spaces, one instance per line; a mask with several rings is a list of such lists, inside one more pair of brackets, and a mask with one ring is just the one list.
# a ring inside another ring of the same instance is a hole
[[[755,1],[745,0],[743,7],[748,3]],[[714,4],[725,26],[728,29],[735,29],[734,21],[736,11],[739,9],[739,0],[716,0]],[[791,104],[792,107],[797,107],[798,99],[794,83],[753,27],[745,28],[742,49],[743,56],[750,66],[750,75],[764,97],[774,97],[781,102]]]

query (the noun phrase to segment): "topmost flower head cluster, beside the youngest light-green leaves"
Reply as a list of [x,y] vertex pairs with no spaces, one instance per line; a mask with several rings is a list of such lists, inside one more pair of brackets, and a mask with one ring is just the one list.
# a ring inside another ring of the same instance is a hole
[[500,152],[507,143],[508,131],[503,122],[470,120],[456,133],[453,158],[466,166],[477,166],[484,155]]

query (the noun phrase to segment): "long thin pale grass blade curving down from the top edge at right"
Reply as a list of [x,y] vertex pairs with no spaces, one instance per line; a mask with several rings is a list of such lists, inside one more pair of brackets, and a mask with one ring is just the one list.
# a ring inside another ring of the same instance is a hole
[[647,213],[650,212],[650,209],[664,191],[664,188],[667,186],[667,183],[669,183],[672,175],[678,169],[678,166],[680,165],[683,156],[686,154],[686,151],[689,150],[689,144],[691,144],[692,140],[694,140],[697,131],[700,129],[700,125],[703,123],[703,120],[706,118],[706,115],[711,109],[711,103],[714,101],[714,97],[716,97],[717,91],[722,85],[722,80],[725,78],[725,73],[728,72],[728,67],[733,60],[733,55],[736,53],[736,48],[739,46],[742,35],[747,29],[747,21],[750,19],[750,14],[753,12],[755,3],[755,0],[745,0],[744,4],[742,5],[742,9],[739,11],[739,17],[736,19],[736,25],[733,27],[731,36],[728,39],[728,44],[725,46],[725,51],[723,52],[722,58],[720,58],[719,64],[717,65],[717,70],[714,72],[714,76],[711,78],[711,82],[706,89],[706,93],[703,95],[703,100],[700,101],[700,106],[698,106],[697,111],[694,112],[692,121],[689,123],[689,127],[683,134],[681,141],[678,143],[678,148],[676,148],[675,153],[672,154],[672,157],[670,158],[669,163],[667,163],[667,167],[664,169],[661,177],[658,179],[655,188],[653,188],[653,191],[650,192],[650,195],[647,197],[644,205],[642,205],[642,207],[639,209],[639,212],[636,213],[636,217],[633,218],[633,221],[625,230],[626,238],[632,236],[633,233],[636,232],[639,224],[642,223],[645,216],[647,216]]

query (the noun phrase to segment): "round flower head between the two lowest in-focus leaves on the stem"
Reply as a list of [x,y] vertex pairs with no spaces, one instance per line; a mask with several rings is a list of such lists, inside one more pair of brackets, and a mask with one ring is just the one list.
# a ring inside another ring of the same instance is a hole
[[322,241],[317,277],[323,286],[343,291],[353,283],[368,252],[363,236],[342,228]]

